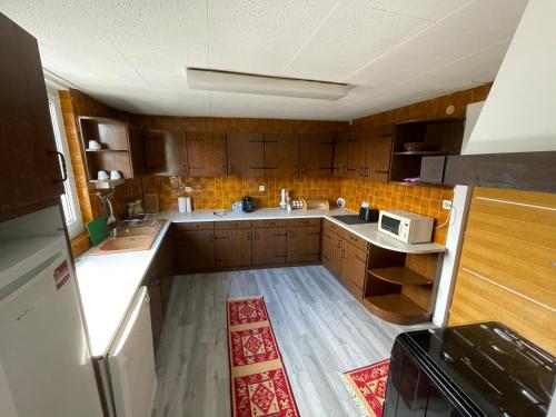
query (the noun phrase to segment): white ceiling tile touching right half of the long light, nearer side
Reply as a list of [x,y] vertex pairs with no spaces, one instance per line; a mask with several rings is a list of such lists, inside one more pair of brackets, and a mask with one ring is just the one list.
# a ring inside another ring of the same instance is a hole
[[430,22],[342,3],[294,59],[294,77],[339,81]]

